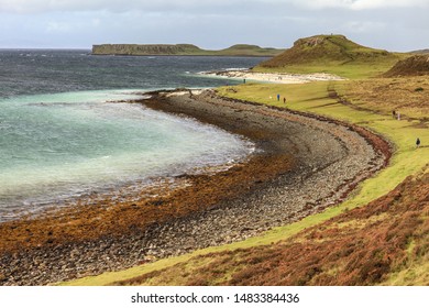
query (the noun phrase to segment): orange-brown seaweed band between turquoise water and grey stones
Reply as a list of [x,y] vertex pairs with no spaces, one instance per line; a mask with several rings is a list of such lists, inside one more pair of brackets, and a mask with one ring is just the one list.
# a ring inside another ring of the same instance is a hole
[[139,201],[116,204],[107,198],[91,206],[68,208],[34,220],[4,222],[0,224],[0,253],[143,231],[151,223],[200,211],[244,194],[289,167],[290,160],[285,155],[270,160],[255,156],[245,167],[237,165],[215,175],[184,176],[180,180],[191,184],[185,188],[168,190],[161,187],[152,191],[151,195],[162,198],[147,197],[147,191],[142,191]]

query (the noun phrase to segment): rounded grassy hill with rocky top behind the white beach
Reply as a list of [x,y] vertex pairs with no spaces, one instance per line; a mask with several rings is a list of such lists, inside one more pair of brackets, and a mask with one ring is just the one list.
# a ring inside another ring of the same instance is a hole
[[292,48],[254,69],[267,73],[330,73],[364,78],[386,72],[405,56],[359,45],[343,35],[316,35],[296,41]]

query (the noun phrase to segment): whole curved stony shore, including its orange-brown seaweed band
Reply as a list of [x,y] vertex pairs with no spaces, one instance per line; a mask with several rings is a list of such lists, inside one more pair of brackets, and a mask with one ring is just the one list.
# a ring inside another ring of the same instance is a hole
[[[257,151],[215,174],[140,200],[105,200],[0,224],[0,285],[46,285],[240,241],[343,200],[387,164],[389,145],[359,127],[202,92],[136,101],[253,140]],[[143,197],[144,196],[144,197]]]

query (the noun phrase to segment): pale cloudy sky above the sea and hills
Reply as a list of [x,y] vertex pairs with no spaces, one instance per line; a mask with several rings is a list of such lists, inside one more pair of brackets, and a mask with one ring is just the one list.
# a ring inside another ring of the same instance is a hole
[[343,34],[375,48],[429,48],[429,0],[0,0],[0,48],[92,44],[290,47]]

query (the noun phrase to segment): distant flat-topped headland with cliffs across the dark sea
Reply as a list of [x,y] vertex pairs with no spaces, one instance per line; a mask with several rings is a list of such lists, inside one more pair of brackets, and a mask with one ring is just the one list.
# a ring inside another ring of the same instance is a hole
[[263,48],[256,45],[239,44],[220,51],[206,51],[191,44],[101,44],[92,45],[92,55],[121,56],[252,56],[273,57],[285,50]]

